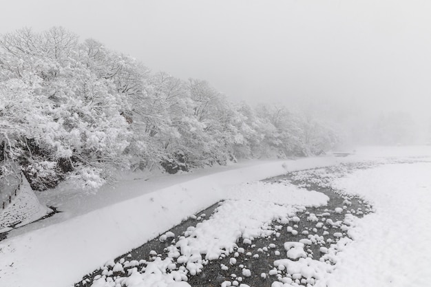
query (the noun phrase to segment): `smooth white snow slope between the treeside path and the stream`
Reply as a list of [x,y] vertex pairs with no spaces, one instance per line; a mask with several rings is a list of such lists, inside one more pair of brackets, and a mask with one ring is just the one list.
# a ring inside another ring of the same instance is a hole
[[[0,286],[72,286],[109,259],[158,237],[193,213],[229,198],[235,186],[240,188],[244,182],[337,162],[336,158],[322,157],[253,164],[156,189],[17,235],[0,242]],[[303,200],[292,203],[304,204]],[[273,211],[266,212],[273,215]]]

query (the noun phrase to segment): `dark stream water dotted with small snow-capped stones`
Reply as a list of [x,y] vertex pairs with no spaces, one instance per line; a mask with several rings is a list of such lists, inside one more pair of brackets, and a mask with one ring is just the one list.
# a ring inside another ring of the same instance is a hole
[[[284,242],[299,242],[302,239],[308,239],[309,235],[324,237],[324,240],[320,240],[318,243],[306,245],[304,251],[308,254],[308,257],[319,260],[323,253],[321,253],[321,247],[329,248],[330,244],[333,244],[339,240],[339,235],[346,237],[345,229],[343,224],[340,224],[345,219],[346,214],[352,213],[357,217],[362,217],[367,213],[372,212],[372,206],[361,198],[354,196],[342,195],[335,192],[329,187],[330,178],[324,176],[328,173],[342,176],[346,172],[367,168],[364,165],[344,165],[342,167],[329,167],[323,169],[325,172],[322,173],[322,169],[310,169],[307,171],[295,171],[288,173],[284,176],[277,176],[275,178],[269,178],[264,180],[265,182],[273,182],[284,184],[289,182],[291,184],[299,185],[310,191],[319,191],[328,195],[329,201],[326,206],[309,207],[304,211],[297,213],[299,222],[289,222],[288,224],[282,224],[282,222],[274,221],[272,223],[273,234],[269,237],[255,238],[252,244],[242,244],[242,238],[237,242],[237,248],[235,251],[240,251],[244,248],[244,252],[237,253],[235,259],[236,264],[229,264],[229,259],[234,255],[231,254],[226,257],[220,257],[220,259],[209,261],[208,264],[204,265],[202,272],[195,276],[188,275],[188,283],[191,286],[221,286],[224,281],[231,281],[232,286],[239,284],[247,284],[249,286],[262,286],[270,287],[273,281],[277,281],[277,276],[286,276],[286,271],[277,270],[277,274],[271,275],[269,270],[273,269],[273,262],[277,259],[286,258],[286,251],[284,250]],[[201,222],[205,218],[211,216],[217,206],[220,204],[214,204],[208,209],[197,213],[195,217],[189,218],[180,225],[175,226],[170,231],[173,232],[176,237],[183,235],[189,226],[196,226],[198,222]],[[338,208],[338,209],[337,209]],[[337,212],[335,212],[337,209]],[[341,209],[341,211],[340,211]],[[314,214],[314,218],[318,221],[311,221],[311,214]],[[202,214],[205,216],[202,217]],[[332,222],[339,222],[339,224],[328,223],[328,219]],[[316,228],[317,222],[322,222],[321,227]],[[295,228],[299,231],[297,235],[288,232],[288,226]],[[338,233],[335,237],[335,233]],[[171,240],[167,242],[160,242],[158,238],[143,244],[127,254],[121,255],[114,259],[115,262],[120,261],[121,258],[125,260],[151,260],[151,257],[157,254],[158,257],[164,259],[167,257],[167,246],[171,245]],[[152,251],[153,255],[150,255]],[[155,253],[154,253],[155,251]],[[258,255],[255,256],[255,255]],[[180,264],[178,264],[180,265]],[[229,269],[222,268],[222,266],[229,266]],[[143,266],[140,266],[141,268]],[[244,277],[242,275],[242,269],[248,268],[251,270],[251,275]],[[227,270],[226,270],[227,269]],[[127,270],[126,270],[127,273]],[[78,286],[91,286],[94,277],[101,275],[102,270],[95,270],[89,275],[85,275],[81,282],[75,284]],[[113,273],[112,277],[125,276],[124,273]],[[290,275],[289,275],[290,276]],[[241,278],[238,278],[241,277]],[[294,278],[295,280],[295,278]],[[296,283],[301,286],[312,286],[313,282],[306,282],[305,278],[296,278]]]

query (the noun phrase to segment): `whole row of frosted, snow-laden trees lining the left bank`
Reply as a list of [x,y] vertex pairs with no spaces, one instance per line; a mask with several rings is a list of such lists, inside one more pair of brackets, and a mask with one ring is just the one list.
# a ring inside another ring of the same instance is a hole
[[96,188],[116,169],[308,156],[337,141],[286,107],[231,103],[206,81],[151,73],[64,28],[0,38],[0,160],[19,162],[33,189],[65,178]]

